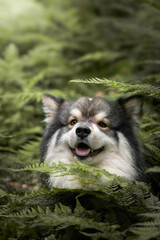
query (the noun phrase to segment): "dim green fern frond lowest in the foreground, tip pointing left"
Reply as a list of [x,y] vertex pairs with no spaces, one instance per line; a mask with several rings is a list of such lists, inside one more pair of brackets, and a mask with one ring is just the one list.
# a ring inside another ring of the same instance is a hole
[[[79,208],[79,206],[77,206]],[[52,226],[55,227],[57,231],[66,229],[69,226],[76,226],[80,231],[84,231],[85,229],[95,229],[99,232],[108,231],[110,233],[110,238],[115,237],[116,230],[119,228],[118,225],[110,226],[109,223],[105,222],[97,222],[92,217],[87,214],[87,210],[79,216],[77,213],[82,213],[82,208],[80,211],[76,210],[76,213],[72,212],[67,206],[60,205],[56,206],[54,212],[51,212],[49,208],[43,210],[40,207],[30,208],[22,210],[15,214],[10,214],[6,217],[9,218],[36,218],[38,217],[36,223],[41,222],[44,226]],[[87,214],[87,215],[86,215]],[[120,235],[120,233],[119,233]],[[116,238],[118,239],[118,238]]]

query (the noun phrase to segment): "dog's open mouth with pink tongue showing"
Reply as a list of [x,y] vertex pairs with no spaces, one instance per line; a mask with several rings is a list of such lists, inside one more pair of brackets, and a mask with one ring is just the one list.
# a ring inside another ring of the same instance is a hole
[[78,158],[85,159],[87,157],[92,157],[92,156],[99,154],[100,152],[102,152],[103,149],[104,149],[104,147],[98,148],[96,150],[92,150],[87,144],[80,143],[80,144],[78,144],[78,146],[75,149],[71,148],[71,151]]

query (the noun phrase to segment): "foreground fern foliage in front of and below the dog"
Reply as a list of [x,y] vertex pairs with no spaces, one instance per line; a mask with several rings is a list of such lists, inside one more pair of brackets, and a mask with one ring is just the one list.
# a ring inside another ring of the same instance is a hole
[[[124,239],[135,231],[129,226],[142,219],[140,213],[152,213],[150,207],[160,207],[158,198],[149,193],[146,184],[133,184],[82,163],[33,165],[23,169],[28,170],[50,172],[55,177],[73,175],[72,181],[79,179],[83,184],[91,184],[93,190],[41,189],[21,197],[1,191],[1,197],[8,197],[10,201],[4,204],[0,215],[22,222],[16,235],[18,239],[39,239],[53,234],[59,238],[62,233],[67,239],[88,239],[85,236]],[[101,181],[104,175],[110,178],[106,184]]]

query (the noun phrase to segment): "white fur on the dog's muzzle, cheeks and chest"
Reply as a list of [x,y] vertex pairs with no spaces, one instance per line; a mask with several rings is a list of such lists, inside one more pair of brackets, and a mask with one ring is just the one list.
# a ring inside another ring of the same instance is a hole
[[[77,136],[75,130],[78,125],[76,124],[69,132],[64,133],[58,144],[56,144],[56,138],[59,131],[54,134],[48,145],[45,157],[45,161],[49,165],[52,165],[53,162],[58,163],[59,161],[67,164],[77,161],[70,147],[75,148],[76,146]],[[109,173],[134,180],[136,170],[134,168],[130,145],[124,135],[120,132],[118,133],[119,143],[117,144],[114,138],[100,131],[96,124],[91,124],[90,128],[92,130],[88,137],[90,147],[95,150],[104,146],[104,150],[93,157],[88,157],[83,162],[97,168],[105,169]],[[82,186],[78,181],[70,181],[72,178],[73,176],[51,176],[49,184],[50,187],[58,188],[87,188],[87,186]],[[106,178],[104,178],[104,181],[106,181]]]

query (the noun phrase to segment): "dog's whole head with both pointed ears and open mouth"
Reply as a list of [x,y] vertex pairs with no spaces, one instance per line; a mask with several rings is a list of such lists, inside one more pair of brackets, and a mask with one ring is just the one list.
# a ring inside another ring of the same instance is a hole
[[69,161],[97,165],[107,153],[129,154],[125,148],[137,147],[135,132],[142,109],[139,95],[115,102],[88,97],[67,102],[46,94],[43,104],[47,123],[43,156],[50,148],[49,163],[66,157]]

